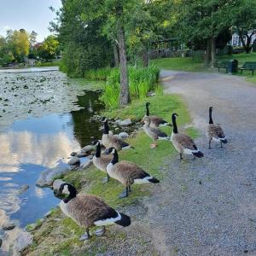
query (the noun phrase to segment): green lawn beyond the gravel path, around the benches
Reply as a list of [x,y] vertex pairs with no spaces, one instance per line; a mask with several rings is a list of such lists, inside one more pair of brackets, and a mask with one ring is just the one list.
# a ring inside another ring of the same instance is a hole
[[[218,61],[230,61],[237,60],[239,66],[241,66],[246,61],[256,61],[256,53],[251,54],[237,54],[237,55],[223,55],[217,56]],[[156,67],[163,69],[172,69],[172,70],[181,70],[189,72],[218,72],[218,68],[210,68],[204,66],[203,58],[196,56],[195,58],[186,57],[186,58],[163,58],[152,60],[152,64]],[[221,73],[224,73],[225,70],[221,69]],[[252,77],[251,71],[244,71],[242,74],[236,73],[237,75],[246,76],[248,81],[256,83],[256,79]]]

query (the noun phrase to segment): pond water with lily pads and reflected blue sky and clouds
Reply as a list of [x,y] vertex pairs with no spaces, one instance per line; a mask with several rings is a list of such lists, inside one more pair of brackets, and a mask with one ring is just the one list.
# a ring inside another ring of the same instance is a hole
[[[0,231],[3,251],[26,224],[34,223],[59,200],[51,189],[35,186],[40,172],[67,162],[73,151],[101,137],[97,122],[100,91],[58,71],[0,73]],[[22,185],[29,185],[19,194]],[[0,251],[1,254],[1,251]]]

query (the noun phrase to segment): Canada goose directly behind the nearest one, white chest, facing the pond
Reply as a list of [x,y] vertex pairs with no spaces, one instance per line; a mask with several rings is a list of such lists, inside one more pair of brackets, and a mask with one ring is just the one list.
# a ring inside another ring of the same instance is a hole
[[107,172],[110,177],[117,179],[125,185],[125,191],[119,195],[119,198],[124,198],[131,192],[131,184],[143,183],[159,183],[155,177],[150,176],[147,172],[129,161],[119,161],[119,155],[115,148],[109,148],[109,153],[113,154],[113,160],[107,166]]

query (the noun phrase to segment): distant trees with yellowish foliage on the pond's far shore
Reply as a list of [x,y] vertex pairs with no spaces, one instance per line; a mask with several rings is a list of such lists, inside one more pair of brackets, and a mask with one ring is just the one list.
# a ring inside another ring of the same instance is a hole
[[49,61],[60,51],[59,41],[53,35],[37,43],[36,32],[28,33],[25,29],[9,30],[6,37],[0,36],[0,67],[10,63],[22,63],[27,58]]

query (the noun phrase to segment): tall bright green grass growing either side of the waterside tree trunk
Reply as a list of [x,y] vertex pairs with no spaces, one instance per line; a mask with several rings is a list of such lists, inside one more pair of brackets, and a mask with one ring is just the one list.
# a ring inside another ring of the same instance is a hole
[[[159,68],[129,67],[129,89],[131,99],[143,99],[148,91],[156,89]],[[108,108],[119,108],[120,73],[119,69],[112,69],[107,78],[105,90],[101,99]]]

